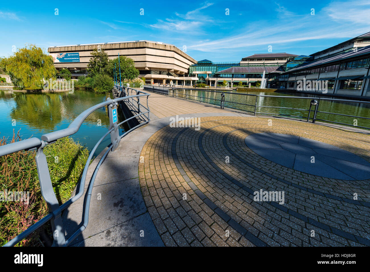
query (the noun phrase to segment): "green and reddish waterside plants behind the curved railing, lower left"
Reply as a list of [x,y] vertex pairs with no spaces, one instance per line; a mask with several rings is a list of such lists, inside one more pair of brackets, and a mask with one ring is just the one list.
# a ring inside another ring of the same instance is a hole
[[[20,140],[13,136],[10,142]],[[5,145],[6,139],[0,139]],[[80,180],[89,151],[71,138],[65,137],[44,148],[59,204],[65,203]],[[35,162],[36,151],[20,151],[0,157],[0,191],[29,191],[30,202],[0,201],[0,245],[16,237],[22,231],[48,214],[47,205],[41,196]],[[57,157],[57,159],[56,159]],[[40,244],[40,232],[50,234],[50,226],[39,229],[19,242],[17,246]]]

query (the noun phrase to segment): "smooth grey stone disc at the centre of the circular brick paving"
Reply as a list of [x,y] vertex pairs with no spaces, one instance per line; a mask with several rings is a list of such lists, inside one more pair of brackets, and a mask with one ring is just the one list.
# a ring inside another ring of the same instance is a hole
[[280,133],[256,133],[246,145],[265,159],[290,169],[341,180],[366,180],[370,163],[361,157],[317,140]]

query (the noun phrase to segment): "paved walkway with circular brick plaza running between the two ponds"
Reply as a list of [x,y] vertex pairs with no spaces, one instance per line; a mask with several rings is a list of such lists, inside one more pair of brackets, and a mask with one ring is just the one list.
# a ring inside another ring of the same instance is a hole
[[[73,246],[370,245],[369,134],[155,93],[149,106],[100,167]],[[175,115],[199,130],[171,127]],[[82,207],[64,212],[66,237]]]

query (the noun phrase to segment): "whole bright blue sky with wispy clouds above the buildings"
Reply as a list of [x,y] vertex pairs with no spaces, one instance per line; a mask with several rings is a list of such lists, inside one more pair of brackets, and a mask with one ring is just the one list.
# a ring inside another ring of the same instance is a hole
[[0,56],[27,43],[47,49],[133,40],[185,45],[198,61],[240,61],[268,53],[269,45],[309,55],[369,32],[369,14],[369,0],[9,1],[0,7]]

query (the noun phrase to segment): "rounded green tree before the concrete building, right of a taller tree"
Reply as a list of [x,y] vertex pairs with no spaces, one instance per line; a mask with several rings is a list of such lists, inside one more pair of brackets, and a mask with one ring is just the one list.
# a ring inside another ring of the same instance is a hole
[[[117,79],[120,80],[120,70],[121,70],[121,80],[124,79],[135,79],[139,76],[139,70],[135,68],[135,62],[132,58],[126,56],[120,56],[120,63],[118,65],[118,58],[110,59],[107,67],[107,74],[114,78],[114,64],[117,72]],[[145,81],[144,81],[145,82]]]

